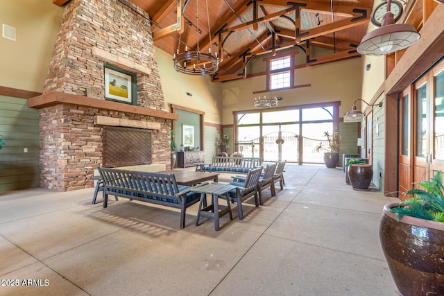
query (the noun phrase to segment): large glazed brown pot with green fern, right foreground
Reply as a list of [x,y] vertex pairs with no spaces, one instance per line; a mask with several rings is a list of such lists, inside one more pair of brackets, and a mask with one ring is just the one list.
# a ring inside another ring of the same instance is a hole
[[386,204],[379,238],[402,295],[444,295],[444,195],[441,172],[411,189],[413,197]]

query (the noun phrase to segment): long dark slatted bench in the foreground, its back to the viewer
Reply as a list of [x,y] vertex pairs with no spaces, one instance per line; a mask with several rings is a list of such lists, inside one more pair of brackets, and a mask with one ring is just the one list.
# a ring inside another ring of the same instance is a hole
[[125,171],[118,168],[99,168],[99,173],[103,180],[104,208],[108,207],[108,195],[173,207],[180,209],[180,228],[183,228],[187,207],[200,200],[200,194],[190,192],[196,186],[178,185],[174,174]]

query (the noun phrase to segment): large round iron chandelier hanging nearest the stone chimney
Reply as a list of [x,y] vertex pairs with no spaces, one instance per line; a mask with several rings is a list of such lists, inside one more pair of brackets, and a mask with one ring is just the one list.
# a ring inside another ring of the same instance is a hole
[[209,53],[201,53],[199,49],[199,0],[196,0],[196,40],[197,51],[188,51],[188,46],[185,46],[185,51],[180,53],[180,37],[177,53],[173,56],[174,69],[180,73],[189,75],[212,75],[219,69],[219,58],[217,52],[212,55],[211,50],[211,31],[210,31],[210,15],[208,12],[208,0],[205,0],[207,7],[207,24],[208,24],[208,36],[210,40]]

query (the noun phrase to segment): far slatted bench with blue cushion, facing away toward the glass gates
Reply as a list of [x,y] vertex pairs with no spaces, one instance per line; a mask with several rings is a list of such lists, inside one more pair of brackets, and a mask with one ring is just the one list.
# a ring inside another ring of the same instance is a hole
[[256,157],[214,156],[211,164],[200,165],[196,171],[246,174],[261,165],[262,160]]

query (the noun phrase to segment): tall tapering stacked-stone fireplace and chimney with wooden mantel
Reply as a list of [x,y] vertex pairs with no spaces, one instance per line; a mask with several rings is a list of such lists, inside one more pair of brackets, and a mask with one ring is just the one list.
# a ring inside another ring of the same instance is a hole
[[[135,105],[105,100],[105,64],[135,73]],[[43,94],[28,105],[40,110],[42,187],[70,191],[93,186],[96,168],[116,164],[108,162],[108,154],[103,158],[109,128],[151,138],[144,153],[135,146],[145,138],[129,136],[136,143],[117,148],[127,157],[123,165],[170,166],[171,122],[178,116],[167,112],[164,102],[148,15],[129,1],[67,3]],[[105,153],[110,147],[118,153],[110,142]]]

